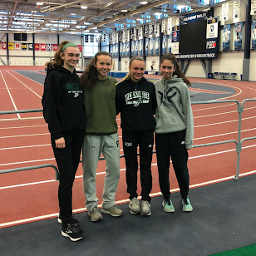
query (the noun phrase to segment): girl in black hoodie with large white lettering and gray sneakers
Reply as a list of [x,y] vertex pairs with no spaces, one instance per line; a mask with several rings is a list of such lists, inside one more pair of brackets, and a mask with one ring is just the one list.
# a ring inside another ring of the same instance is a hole
[[[152,189],[151,161],[155,129],[155,86],[143,76],[145,61],[132,57],[129,74],[116,86],[116,113],[121,113],[123,149],[126,159],[127,192],[130,213],[150,216]],[[137,146],[140,147],[140,182],[142,205],[137,199]]]

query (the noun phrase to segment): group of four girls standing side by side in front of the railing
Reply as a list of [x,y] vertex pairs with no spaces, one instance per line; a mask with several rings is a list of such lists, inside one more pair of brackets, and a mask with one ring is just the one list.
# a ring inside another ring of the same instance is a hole
[[[128,75],[117,85],[111,71],[112,57],[98,52],[86,66],[81,78],[76,75],[80,51],[64,41],[51,62],[42,97],[43,115],[51,134],[52,149],[59,169],[58,199],[62,235],[72,241],[83,237],[80,223],[72,216],[72,185],[82,148],[83,188],[91,221],[103,219],[101,212],[121,216],[115,196],[120,179],[120,147],[116,115],[121,113],[123,150],[126,159],[127,192],[130,213],[149,216],[152,189],[151,160],[154,145],[159,170],[160,190],[165,212],[174,212],[170,199],[170,157],[180,185],[184,211],[192,211],[189,192],[187,150],[193,145],[193,116],[188,81],[175,56],[160,59],[163,77],[155,86],[144,77],[145,61],[133,57]],[[155,117],[154,117],[155,115]],[[140,148],[142,203],[137,199],[137,147]],[[103,154],[106,177],[102,209],[96,197],[96,168]]]

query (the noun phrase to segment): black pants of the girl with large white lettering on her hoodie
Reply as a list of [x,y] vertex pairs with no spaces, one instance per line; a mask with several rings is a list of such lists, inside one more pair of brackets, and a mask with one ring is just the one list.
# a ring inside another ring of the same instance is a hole
[[126,183],[130,199],[137,197],[138,158],[137,146],[140,147],[140,183],[142,200],[150,202],[152,190],[151,162],[154,143],[153,130],[127,131],[122,134],[126,159]]

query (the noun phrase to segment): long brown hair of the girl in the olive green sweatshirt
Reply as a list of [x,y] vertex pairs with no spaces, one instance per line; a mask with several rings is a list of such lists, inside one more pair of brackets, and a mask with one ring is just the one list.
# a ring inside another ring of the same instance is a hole
[[101,55],[106,55],[111,57],[112,56],[109,52],[97,52],[96,56],[91,59],[91,62],[86,66],[85,71],[82,72],[80,77],[81,85],[84,86],[86,89],[91,89],[95,86],[98,77],[98,71],[94,65],[96,65],[97,57]]

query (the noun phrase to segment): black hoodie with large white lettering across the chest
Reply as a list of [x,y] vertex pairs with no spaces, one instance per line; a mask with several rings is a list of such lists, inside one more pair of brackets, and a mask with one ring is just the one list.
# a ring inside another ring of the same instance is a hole
[[155,86],[145,77],[130,78],[116,86],[116,115],[121,112],[121,128],[128,131],[154,130]]

